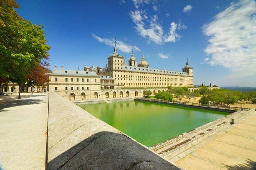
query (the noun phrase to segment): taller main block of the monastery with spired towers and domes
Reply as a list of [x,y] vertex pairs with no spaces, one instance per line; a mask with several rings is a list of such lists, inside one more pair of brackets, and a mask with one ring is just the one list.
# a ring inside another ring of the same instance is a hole
[[182,72],[153,69],[145,61],[144,55],[137,66],[137,59],[132,51],[127,65],[126,59],[117,53],[115,45],[114,53],[108,57],[107,66],[99,68],[97,74],[113,77],[116,88],[194,87],[193,68],[188,65],[188,59]]

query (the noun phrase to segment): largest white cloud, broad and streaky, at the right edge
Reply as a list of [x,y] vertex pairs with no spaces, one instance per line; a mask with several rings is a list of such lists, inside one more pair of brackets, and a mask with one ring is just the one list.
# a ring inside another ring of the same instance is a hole
[[212,66],[230,69],[230,77],[256,75],[256,3],[251,0],[233,3],[204,24],[204,35],[209,37],[204,50]]

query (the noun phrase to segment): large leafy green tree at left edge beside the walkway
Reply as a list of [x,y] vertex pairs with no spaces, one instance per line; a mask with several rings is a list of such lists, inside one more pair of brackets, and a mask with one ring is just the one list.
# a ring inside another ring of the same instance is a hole
[[0,80],[18,83],[20,98],[31,69],[47,66],[50,46],[43,26],[25,21],[13,8],[19,8],[14,0],[0,1]]

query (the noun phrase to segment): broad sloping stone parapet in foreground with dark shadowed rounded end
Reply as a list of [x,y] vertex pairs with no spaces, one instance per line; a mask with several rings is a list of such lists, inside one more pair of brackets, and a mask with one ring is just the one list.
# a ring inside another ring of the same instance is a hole
[[174,169],[170,162],[49,91],[46,169]]

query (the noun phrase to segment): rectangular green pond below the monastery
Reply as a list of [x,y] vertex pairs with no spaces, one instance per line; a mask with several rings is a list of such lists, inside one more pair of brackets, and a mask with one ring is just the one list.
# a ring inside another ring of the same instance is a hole
[[148,147],[229,114],[142,101],[79,106]]

